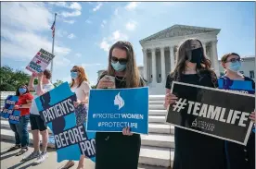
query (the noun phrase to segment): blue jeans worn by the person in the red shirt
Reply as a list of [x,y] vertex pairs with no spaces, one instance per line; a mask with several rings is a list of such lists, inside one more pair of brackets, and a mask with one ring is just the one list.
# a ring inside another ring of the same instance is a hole
[[30,115],[23,115],[19,117],[19,124],[9,124],[11,130],[15,135],[15,144],[20,145],[22,148],[26,148],[29,145],[29,132],[28,124],[30,122]]

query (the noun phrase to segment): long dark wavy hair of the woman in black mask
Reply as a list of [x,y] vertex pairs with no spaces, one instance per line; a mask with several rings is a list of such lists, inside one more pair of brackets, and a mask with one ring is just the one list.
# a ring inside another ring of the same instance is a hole
[[171,72],[173,79],[180,80],[182,73],[185,71],[186,60],[191,59],[191,51],[192,51],[191,42],[192,41],[198,41],[203,50],[203,56],[202,56],[202,60],[200,62],[200,66],[197,66],[198,74],[200,74],[200,72],[202,72],[202,71],[210,72],[211,80],[212,80],[212,82],[215,82],[216,75],[215,75],[214,71],[211,70],[211,61],[210,61],[210,59],[207,58],[206,54],[204,53],[204,48],[203,48],[202,42],[200,42],[196,38],[186,39],[186,41],[182,42],[181,45],[179,46],[178,52],[177,52],[177,58],[176,58],[177,59],[176,65],[175,65],[173,72]]

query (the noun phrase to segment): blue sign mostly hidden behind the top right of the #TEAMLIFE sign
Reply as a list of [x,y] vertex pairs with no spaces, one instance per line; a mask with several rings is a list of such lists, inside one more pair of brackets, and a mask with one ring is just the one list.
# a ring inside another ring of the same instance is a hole
[[239,91],[249,94],[254,94],[255,90],[252,89],[251,81],[232,80],[229,78],[218,78],[219,89],[228,91]]

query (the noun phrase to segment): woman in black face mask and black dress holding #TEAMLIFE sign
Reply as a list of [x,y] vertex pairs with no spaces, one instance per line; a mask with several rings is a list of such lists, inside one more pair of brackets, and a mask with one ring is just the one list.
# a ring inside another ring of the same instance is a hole
[[[173,80],[215,88],[217,77],[211,70],[211,61],[203,52],[198,39],[188,39],[178,49],[177,61],[173,72],[166,81],[164,106],[167,109],[177,97],[171,92]],[[185,97],[179,93],[179,97]],[[191,93],[191,100],[197,93]],[[190,98],[187,98],[190,100]],[[224,140],[175,127],[175,150],[173,169],[224,169]]]

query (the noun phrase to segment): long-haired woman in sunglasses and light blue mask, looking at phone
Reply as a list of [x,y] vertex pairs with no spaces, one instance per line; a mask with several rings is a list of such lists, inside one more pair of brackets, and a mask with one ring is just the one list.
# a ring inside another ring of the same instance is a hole
[[[106,75],[115,77],[114,82]],[[109,68],[99,78],[96,89],[143,87],[130,42],[116,42],[109,50]],[[129,127],[119,132],[96,132],[96,169],[137,169],[141,139]]]

